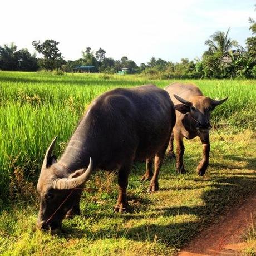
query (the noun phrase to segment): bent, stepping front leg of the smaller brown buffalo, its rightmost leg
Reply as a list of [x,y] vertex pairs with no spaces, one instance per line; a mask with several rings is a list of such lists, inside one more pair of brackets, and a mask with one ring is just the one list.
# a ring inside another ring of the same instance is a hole
[[210,138],[209,138],[209,132],[205,132],[203,134],[199,135],[200,140],[203,145],[203,154],[202,159],[198,164],[198,167],[196,168],[196,172],[203,176],[205,174],[205,171],[209,164],[209,155],[210,155]]

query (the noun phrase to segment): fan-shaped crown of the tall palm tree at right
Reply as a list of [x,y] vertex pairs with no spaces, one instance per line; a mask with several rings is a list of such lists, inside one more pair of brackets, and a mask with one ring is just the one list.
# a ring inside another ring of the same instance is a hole
[[228,37],[229,29],[226,33],[224,31],[216,31],[210,36],[210,39],[204,42],[205,45],[209,46],[211,52],[219,52],[224,55],[232,46],[239,46],[237,41],[231,40]]

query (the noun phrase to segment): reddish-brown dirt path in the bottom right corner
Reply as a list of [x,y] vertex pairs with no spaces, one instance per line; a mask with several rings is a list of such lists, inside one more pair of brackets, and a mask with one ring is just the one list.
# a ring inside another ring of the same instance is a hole
[[245,243],[241,236],[256,218],[256,193],[184,247],[179,256],[240,255]]

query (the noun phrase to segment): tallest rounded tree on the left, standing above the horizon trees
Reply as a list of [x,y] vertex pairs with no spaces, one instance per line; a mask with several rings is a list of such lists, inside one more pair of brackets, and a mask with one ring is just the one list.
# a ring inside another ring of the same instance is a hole
[[47,39],[45,42],[33,41],[32,45],[35,47],[36,51],[43,55],[43,59],[39,60],[39,66],[46,70],[53,70],[55,68],[60,68],[62,64],[65,63],[60,51],[58,50],[56,42],[51,39]]

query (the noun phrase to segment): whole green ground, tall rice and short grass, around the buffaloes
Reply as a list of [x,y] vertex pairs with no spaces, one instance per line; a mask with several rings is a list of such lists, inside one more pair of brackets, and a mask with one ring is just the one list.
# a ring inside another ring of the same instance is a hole
[[199,139],[186,140],[186,174],[177,174],[174,160],[166,156],[157,193],[147,194],[149,184],[140,182],[145,163],[134,164],[128,187],[131,213],[113,212],[116,175],[99,171],[86,185],[81,216],[64,220],[63,230],[55,234],[36,229],[36,183],[53,137],[58,136],[55,154],[60,156],[87,105],[102,92],[146,83],[164,88],[174,82],[151,78],[0,72],[0,254],[175,255],[255,191],[256,81],[183,80],[213,99],[229,97],[213,112],[218,131],[211,131],[206,175],[195,173]]

